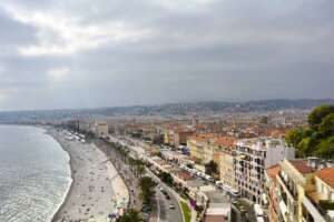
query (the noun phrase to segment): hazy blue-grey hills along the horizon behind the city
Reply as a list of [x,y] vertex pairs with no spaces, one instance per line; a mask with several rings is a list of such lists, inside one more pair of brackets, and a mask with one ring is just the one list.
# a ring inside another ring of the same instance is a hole
[[287,109],[311,110],[321,104],[334,104],[334,99],[259,100],[247,102],[204,101],[161,105],[134,105],[98,109],[0,112],[0,122],[61,120],[95,115],[186,115],[203,113],[264,112]]

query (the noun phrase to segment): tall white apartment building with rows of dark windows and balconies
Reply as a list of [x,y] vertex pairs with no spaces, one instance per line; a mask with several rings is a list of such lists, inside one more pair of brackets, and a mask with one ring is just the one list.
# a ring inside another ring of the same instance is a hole
[[265,169],[283,159],[294,159],[294,148],[272,138],[244,139],[236,145],[235,180],[243,198],[263,204]]

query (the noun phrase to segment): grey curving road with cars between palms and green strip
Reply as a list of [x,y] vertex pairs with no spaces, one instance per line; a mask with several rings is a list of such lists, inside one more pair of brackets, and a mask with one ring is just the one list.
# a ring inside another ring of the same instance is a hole
[[[158,176],[156,176],[153,172],[147,169],[147,174],[158,183],[156,188],[156,201],[157,208],[155,209],[158,214],[159,222],[184,222],[183,212],[179,206],[178,200],[170,192],[170,188],[165,185]],[[168,193],[170,200],[167,200],[165,194],[161,192],[160,188]],[[174,204],[175,209],[170,209],[170,204]]]

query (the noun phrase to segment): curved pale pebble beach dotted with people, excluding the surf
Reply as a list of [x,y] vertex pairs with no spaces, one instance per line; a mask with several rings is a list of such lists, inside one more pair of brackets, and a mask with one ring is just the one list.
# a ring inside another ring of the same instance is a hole
[[126,208],[129,192],[106,154],[95,144],[67,140],[48,130],[71,158],[72,184],[52,222],[108,221],[110,213]]

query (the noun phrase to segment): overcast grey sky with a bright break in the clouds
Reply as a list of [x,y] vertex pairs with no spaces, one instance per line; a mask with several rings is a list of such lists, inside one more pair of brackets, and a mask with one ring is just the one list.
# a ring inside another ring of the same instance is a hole
[[0,110],[334,98],[333,0],[1,0]]

